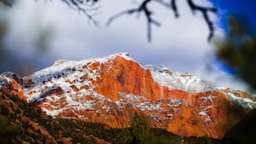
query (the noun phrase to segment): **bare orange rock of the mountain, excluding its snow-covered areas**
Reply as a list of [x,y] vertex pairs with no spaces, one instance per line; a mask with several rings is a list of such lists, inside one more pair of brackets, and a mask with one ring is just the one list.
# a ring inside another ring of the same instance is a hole
[[[116,56],[115,60],[108,60],[105,63],[90,63],[88,66],[92,71],[99,73],[96,80],[90,79],[95,86],[94,90],[111,101],[104,101],[103,104],[96,103],[94,110],[68,108],[56,117],[77,118],[88,122],[108,124],[113,128],[123,128],[130,126],[134,113],[140,111],[147,116],[151,127],[166,129],[177,135],[211,136],[220,139],[246,114],[246,110],[231,102],[224,92],[210,90],[195,93],[168,89],[166,86],[154,82],[148,69],[133,60],[125,60],[121,56]],[[83,66],[84,69],[86,67]],[[84,76],[79,79],[85,81],[87,78],[88,74],[84,73]],[[32,87],[32,81],[28,80],[23,84],[19,78],[13,77],[12,79],[12,89],[10,90],[25,100],[26,96],[22,89],[23,87]],[[66,82],[73,84],[69,79]],[[75,85],[72,85],[71,88],[75,92],[79,91]],[[82,85],[80,89],[89,89],[89,85]],[[160,103],[160,109],[140,110],[132,103],[119,107],[115,103],[122,98],[119,92],[126,95],[140,95],[145,97],[148,102]],[[41,97],[63,94],[63,89],[55,88],[45,92]],[[93,101],[93,99],[90,95],[84,95],[77,98],[77,101]],[[182,103],[171,107],[171,100],[182,101]],[[56,102],[44,99],[35,104],[38,107],[53,110],[52,107],[60,107],[60,109],[66,107],[67,100],[62,96]],[[102,108],[105,106],[108,106],[109,109]]]

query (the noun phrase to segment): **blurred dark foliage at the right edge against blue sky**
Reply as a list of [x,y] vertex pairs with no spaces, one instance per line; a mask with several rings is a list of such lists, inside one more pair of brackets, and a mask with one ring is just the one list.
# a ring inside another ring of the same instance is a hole
[[230,16],[229,31],[224,41],[218,43],[217,55],[256,89],[256,35],[245,18]]

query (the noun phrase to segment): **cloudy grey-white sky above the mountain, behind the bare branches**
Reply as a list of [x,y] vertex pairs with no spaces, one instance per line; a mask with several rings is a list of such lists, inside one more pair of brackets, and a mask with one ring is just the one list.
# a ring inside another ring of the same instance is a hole
[[[193,73],[218,86],[247,90],[245,84],[218,68],[214,44],[207,42],[207,24],[200,13],[191,13],[186,1],[177,1],[178,19],[169,9],[151,6],[155,19],[161,23],[160,27],[153,26],[151,43],[147,40],[143,15],[125,15],[110,26],[105,25],[110,16],[136,7],[136,2],[139,1],[102,0],[97,5],[102,6],[98,11],[100,14],[95,16],[99,26],[89,23],[84,14],[60,1],[41,0],[36,3],[22,0],[16,3],[8,11],[9,33],[5,38],[6,49],[12,55],[1,66],[1,72],[15,71],[25,63],[40,70],[51,66],[55,60],[83,60],[128,52],[131,58],[143,65],[165,65],[173,71]],[[207,1],[196,2],[212,6]],[[221,12],[224,10],[220,9]],[[221,16],[211,14],[217,37],[223,35]],[[46,52],[35,49],[44,34],[49,38],[46,38],[49,42]]]

